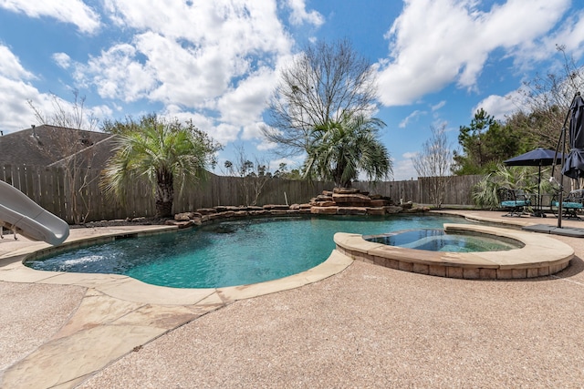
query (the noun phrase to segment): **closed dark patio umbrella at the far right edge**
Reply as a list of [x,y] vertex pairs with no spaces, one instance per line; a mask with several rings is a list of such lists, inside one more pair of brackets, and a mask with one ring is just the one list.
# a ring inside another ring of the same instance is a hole
[[584,99],[574,97],[569,109],[569,153],[562,174],[579,179],[584,177]]

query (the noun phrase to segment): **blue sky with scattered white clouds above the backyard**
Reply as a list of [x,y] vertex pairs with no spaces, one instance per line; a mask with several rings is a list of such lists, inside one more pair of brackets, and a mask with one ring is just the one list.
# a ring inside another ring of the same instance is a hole
[[[458,149],[478,108],[504,120],[566,47],[584,59],[581,0],[0,0],[0,130],[36,123],[84,97],[88,116],[156,113],[276,170],[301,166],[262,137],[279,69],[306,45],[349,39],[376,69],[391,179],[416,179],[431,128]],[[559,131],[559,129],[558,129]]]

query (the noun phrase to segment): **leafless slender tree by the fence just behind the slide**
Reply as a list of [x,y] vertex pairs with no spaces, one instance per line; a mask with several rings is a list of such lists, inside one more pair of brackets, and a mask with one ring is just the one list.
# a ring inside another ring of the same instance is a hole
[[[78,90],[73,90],[73,96],[74,100],[69,104],[57,95],[52,95],[53,109],[49,114],[42,112],[32,100],[27,100],[27,103],[34,111],[38,124],[62,128],[56,139],[58,149],[46,150],[46,152],[64,156],[63,159],[55,161],[51,166],[62,167],[65,170],[69,198],[68,207],[72,211],[74,221],[83,223],[91,210],[87,189],[89,183],[98,179],[99,175],[92,177],[90,170],[87,169],[95,157],[95,149],[90,147],[93,145],[93,141],[80,130],[96,130],[98,120],[91,115],[87,116],[85,97],[79,97]],[[70,129],[77,131],[71,132]]]

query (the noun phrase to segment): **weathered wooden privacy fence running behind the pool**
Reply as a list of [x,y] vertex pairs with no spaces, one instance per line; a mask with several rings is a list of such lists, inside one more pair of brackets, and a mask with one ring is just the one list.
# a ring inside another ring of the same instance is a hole
[[[128,188],[125,203],[107,199],[99,188],[99,171],[35,166],[0,166],[0,179],[20,189],[41,207],[68,223],[98,220],[151,217],[155,213],[152,189],[143,181]],[[468,206],[472,204],[471,188],[481,176],[449,178],[443,204]],[[356,182],[362,191],[379,194],[394,203],[400,200],[430,204],[424,179]],[[217,206],[265,206],[269,204],[304,204],[333,189],[331,182],[274,179],[267,177],[239,178],[212,173],[193,189],[174,194],[175,213]]]

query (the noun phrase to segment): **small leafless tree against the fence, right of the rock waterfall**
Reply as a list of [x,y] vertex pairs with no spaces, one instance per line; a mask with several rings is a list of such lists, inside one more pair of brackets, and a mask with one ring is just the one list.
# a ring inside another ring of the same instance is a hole
[[412,159],[418,176],[429,184],[430,200],[441,208],[446,193],[446,185],[451,176],[453,152],[446,138],[446,125],[430,127],[432,136],[422,145],[422,152]]

